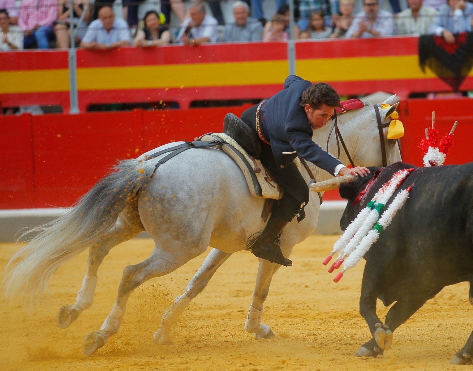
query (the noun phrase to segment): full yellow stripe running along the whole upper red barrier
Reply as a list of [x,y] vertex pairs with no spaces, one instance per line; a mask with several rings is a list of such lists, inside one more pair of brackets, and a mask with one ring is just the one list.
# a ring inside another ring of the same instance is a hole
[[[321,58],[296,61],[296,73],[310,81],[367,81],[436,78],[422,72],[417,55]],[[78,68],[80,90],[252,86],[281,84],[285,60]],[[473,69],[468,76],[473,76]],[[68,69],[0,72],[0,94],[67,92]]]

